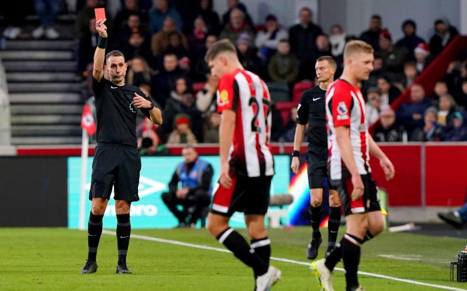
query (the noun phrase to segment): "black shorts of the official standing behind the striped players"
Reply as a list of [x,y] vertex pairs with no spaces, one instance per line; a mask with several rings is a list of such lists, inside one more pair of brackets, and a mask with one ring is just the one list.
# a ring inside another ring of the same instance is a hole
[[[324,188],[324,180],[328,178],[327,175],[327,147],[318,147],[308,144],[306,151],[306,165],[308,166],[308,186],[310,189]],[[329,183],[329,188],[334,190]]]

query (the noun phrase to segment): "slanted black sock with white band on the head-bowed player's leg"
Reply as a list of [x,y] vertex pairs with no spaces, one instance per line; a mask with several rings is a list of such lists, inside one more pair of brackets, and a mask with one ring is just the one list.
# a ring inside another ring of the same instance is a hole
[[248,242],[233,228],[227,228],[216,239],[231,250],[235,257],[253,268],[255,274],[260,276],[268,272],[268,264],[256,254]]

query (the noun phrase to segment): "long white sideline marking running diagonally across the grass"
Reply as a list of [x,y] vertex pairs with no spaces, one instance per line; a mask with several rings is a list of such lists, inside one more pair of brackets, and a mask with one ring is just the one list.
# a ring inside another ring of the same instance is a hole
[[[116,235],[115,232],[108,231],[108,230],[102,230],[102,233],[103,234],[108,234],[108,235],[114,235],[114,236]],[[178,241],[178,240],[165,240],[165,239],[159,239],[159,238],[141,236],[141,235],[134,235],[134,234],[131,235],[131,238],[132,239],[139,239],[139,240],[151,240],[151,241],[157,241],[157,242],[164,242],[164,243],[170,243],[170,244],[175,244],[175,245],[187,246],[187,247],[191,247],[191,248],[210,250],[210,251],[216,251],[216,252],[222,252],[222,253],[231,253],[231,251],[226,250],[226,249],[215,248],[215,247],[210,247],[210,246],[200,245],[200,244],[194,244],[194,243],[188,243],[188,242],[182,242],[182,241]],[[288,259],[288,258],[270,257],[270,259],[271,260],[276,260],[276,261],[281,261],[281,262],[286,262],[286,263],[297,264],[297,265],[311,266],[311,263],[291,260],[291,259]],[[342,269],[342,268],[334,268],[334,270],[338,270],[338,271],[342,271],[342,272],[344,271],[344,269]],[[443,286],[443,285],[423,283],[423,282],[418,282],[418,281],[414,281],[414,280],[401,279],[401,278],[396,278],[396,277],[391,277],[391,276],[386,276],[386,275],[380,275],[380,274],[374,274],[374,273],[367,273],[367,272],[359,271],[359,274],[360,275],[377,277],[377,278],[382,278],[382,279],[393,280],[393,281],[399,281],[399,282],[404,282],[404,283],[410,283],[410,284],[415,284],[415,285],[445,289],[445,290],[467,291],[466,289],[460,289],[460,288]]]

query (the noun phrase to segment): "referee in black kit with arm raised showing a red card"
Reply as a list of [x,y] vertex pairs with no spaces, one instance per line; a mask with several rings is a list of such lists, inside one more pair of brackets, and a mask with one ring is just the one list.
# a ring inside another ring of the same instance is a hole
[[[106,19],[96,21],[99,41],[94,53],[92,91],[96,100],[97,146],[92,161],[89,199],[92,201],[88,223],[88,260],[80,271],[97,271],[96,255],[102,234],[102,218],[114,188],[117,214],[117,274],[131,274],[126,267],[130,240],[130,205],[138,201],[141,159],[136,142],[136,112],[140,109],[156,124],[162,124],[161,110],[136,86],[125,84],[128,64],[121,51],[110,51],[107,45]],[[106,60],[108,80],[104,76]]]

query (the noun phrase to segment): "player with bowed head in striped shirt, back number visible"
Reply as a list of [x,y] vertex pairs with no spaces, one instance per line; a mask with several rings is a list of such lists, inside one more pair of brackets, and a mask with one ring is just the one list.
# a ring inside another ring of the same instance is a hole
[[[269,290],[281,276],[269,265],[270,240],[264,224],[274,175],[269,91],[263,80],[242,67],[235,46],[227,39],[217,41],[205,60],[212,75],[219,77],[217,111],[222,115],[220,177],[208,230],[253,269],[256,291]],[[251,245],[229,227],[235,211],[245,214]]]

